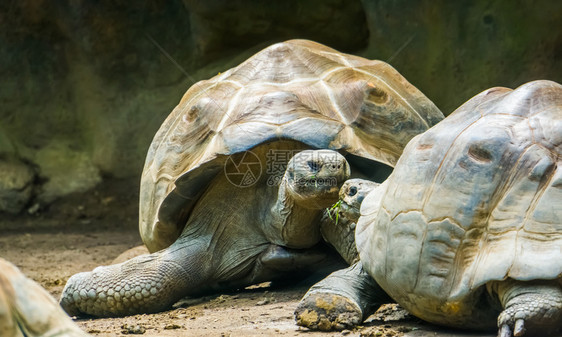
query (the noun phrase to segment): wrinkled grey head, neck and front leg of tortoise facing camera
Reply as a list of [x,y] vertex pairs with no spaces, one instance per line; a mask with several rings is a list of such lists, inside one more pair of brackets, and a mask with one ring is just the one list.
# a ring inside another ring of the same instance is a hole
[[[265,163],[267,152],[280,144],[252,152]],[[319,219],[349,175],[345,158],[332,150],[296,154],[278,187],[268,186],[266,176],[236,187],[219,174],[174,244],[72,276],[61,305],[70,315],[156,312],[184,296],[333,270],[333,256],[317,247]]]

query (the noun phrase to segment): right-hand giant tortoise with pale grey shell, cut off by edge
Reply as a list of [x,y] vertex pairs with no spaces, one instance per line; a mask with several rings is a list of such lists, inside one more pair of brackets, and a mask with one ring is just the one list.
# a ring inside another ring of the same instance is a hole
[[555,332],[561,206],[562,86],[484,91],[412,139],[365,197],[360,262],[313,286],[298,324],[358,324],[392,298],[436,324]]

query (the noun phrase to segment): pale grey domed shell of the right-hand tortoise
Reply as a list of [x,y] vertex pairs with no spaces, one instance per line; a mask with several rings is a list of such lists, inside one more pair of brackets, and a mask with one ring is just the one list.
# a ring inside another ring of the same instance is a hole
[[356,239],[390,296],[445,320],[487,282],[560,278],[561,206],[562,86],[535,81],[487,90],[412,139]]

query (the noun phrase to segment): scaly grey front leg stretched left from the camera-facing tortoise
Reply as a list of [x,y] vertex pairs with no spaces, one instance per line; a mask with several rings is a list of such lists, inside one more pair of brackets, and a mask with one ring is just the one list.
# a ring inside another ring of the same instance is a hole
[[176,241],[154,254],[73,275],[60,304],[71,316],[107,317],[157,312],[205,284],[201,242]]

